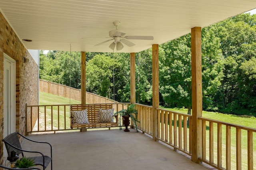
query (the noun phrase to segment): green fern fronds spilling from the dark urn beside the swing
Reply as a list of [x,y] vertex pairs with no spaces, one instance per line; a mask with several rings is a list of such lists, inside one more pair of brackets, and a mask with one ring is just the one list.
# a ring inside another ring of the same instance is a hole
[[138,111],[137,109],[134,108],[135,105],[132,104],[132,105],[129,105],[127,107],[127,109],[122,109],[121,111],[118,111],[116,112],[114,115],[119,115],[119,118],[118,118],[118,122],[119,122],[119,128],[120,130],[122,130],[122,125],[121,125],[121,119],[122,119],[122,116],[129,116],[131,118],[131,121],[134,122],[134,125],[136,127],[136,130],[138,132],[138,127],[137,127],[137,123],[139,123],[140,121],[138,121],[137,119],[137,115],[138,115]]

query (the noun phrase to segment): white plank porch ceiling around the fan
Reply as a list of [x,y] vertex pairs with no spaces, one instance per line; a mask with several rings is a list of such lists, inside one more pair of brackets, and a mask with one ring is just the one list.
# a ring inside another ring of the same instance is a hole
[[256,0],[0,0],[0,11],[27,49],[112,52],[108,32],[154,36],[130,40],[138,52],[256,8]]

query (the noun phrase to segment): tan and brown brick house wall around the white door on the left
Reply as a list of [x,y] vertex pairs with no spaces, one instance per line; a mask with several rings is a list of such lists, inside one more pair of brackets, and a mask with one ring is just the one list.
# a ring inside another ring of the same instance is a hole
[[[31,42],[33,43],[33,42]],[[0,13],[0,140],[3,138],[3,66],[4,53],[16,61],[16,131],[25,134],[25,105],[38,105],[38,65]],[[22,59],[29,59],[23,64]],[[0,163],[3,143],[0,142]]]

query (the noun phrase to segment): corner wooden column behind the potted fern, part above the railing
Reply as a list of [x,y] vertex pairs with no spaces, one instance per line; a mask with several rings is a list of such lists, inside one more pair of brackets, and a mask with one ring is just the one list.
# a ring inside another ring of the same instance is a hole
[[131,103],[136,103],[135,95],[135,53],[130,53],[130,90]]

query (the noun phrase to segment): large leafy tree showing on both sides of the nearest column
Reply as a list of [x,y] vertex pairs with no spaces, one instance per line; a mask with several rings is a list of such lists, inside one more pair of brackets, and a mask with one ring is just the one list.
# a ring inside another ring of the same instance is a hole
[[[215,27],[202,30],[202,90],[204,109],[214,109],[213,100],[224,77],[224,57]],[[162,45],[165,51],[160,69],[160,92],[169,107],[192,108],[191,35]]]

